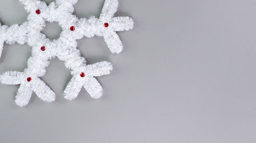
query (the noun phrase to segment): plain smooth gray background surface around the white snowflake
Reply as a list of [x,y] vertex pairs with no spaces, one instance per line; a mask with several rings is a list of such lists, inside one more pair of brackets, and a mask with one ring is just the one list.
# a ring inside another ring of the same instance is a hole
[[[50,0],[47,1],[48,3]],[[99,16],[103,0],[79,0],[75,14]],[[26,21],[17,0],[1,0],[0,21]],[[99,77],[104,96],[83,89],[74,101],[62,92],[71,79],[54,59],[42,78],[56,101],[35,94],[20,108],[18,85],[0,84],[0,142],[256,142],[256,1],[120,0],[117,16],[135,28],[118,33],[124,50],[112,54],[102,37],[78,40],[90,64],[110,61]],[[47,23],[43,33],[58,38]],[[23,71],[31,48],[4,46],[0,73]]]

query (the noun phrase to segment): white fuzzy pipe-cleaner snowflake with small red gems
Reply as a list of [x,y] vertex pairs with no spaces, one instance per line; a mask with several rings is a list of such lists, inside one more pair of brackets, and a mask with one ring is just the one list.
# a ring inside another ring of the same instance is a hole
[[[27,43],[32,47],[28,68],[24,72],[8,71],[0,76],[0,81],[4,84],[20,84],[15,103],[18,106],[26,106],[33,92],[45,102],[55,100],[54,92],[39,77],[45,75],[50,60],[56,56],[65,62],[65,66],[71,70],[73,76],[63,93],[66,99],[75,99],[82,87],[92,98],[100,98],[103,90],[95,77],[110,74],[112,64],[104,61],[87,65],[77,49],[76,40],[84,36],[102,36],[111,52],[121,52],[122,42],[116,32],[131,30],[134,22],[130,17],[114,17],[118,8],[118,0],[105,0],[100,17],[92,16],[89,19],[79,19],[72,15],[73,5],[78,0],[56,0],[49,6],[39,0],[19,1],[29,13],[28,21],[22,25],[11,26],[0,23],[0,56],[4,42],[7,44]],[[40,33],[45,27],[45,21],[56,21],[62,27],[58,39],[50,40]]]

